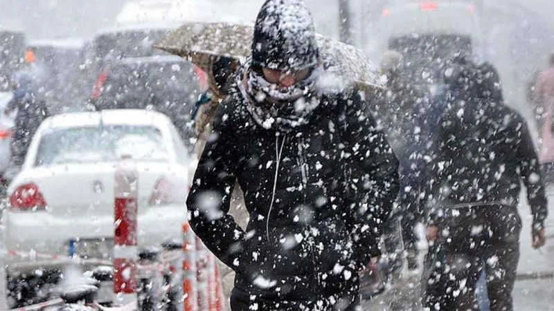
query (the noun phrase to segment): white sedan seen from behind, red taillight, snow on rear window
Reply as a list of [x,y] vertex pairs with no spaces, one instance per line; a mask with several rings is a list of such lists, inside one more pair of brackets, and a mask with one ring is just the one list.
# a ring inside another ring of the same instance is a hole
[[37,258],[73,251],[109,259],[122,156],[132,156],[139,171],[139,247],[181,238],[191,159],[168,117],[130,109],[66,113],[42,123],[8,187],[8,262],[38,265]]

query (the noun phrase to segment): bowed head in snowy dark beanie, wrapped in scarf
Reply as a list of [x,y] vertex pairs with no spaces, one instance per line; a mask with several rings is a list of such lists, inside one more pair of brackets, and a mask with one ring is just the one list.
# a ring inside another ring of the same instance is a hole
[[321,73],[314,21],[302,0],[267,0],[260,9],[242,93],[265,129],[292,131],[319,106]]

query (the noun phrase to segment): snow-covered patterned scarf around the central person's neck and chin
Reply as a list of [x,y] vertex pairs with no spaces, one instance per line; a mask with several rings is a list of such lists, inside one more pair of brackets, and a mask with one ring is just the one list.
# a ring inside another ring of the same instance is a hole
[[321,68],[317,67],[303,81],[278,88],[247,64],[237,79],[247,110],[256,123],[264,129],[289,132],[308,124],[319,106],[316,82],[320,74]]

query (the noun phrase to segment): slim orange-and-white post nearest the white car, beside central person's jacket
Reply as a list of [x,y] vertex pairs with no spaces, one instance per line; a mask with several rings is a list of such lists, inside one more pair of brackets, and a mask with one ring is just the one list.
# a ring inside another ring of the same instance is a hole
[[196,236],[187,222],[183,223],[183,255],[184,311],[197,311]]

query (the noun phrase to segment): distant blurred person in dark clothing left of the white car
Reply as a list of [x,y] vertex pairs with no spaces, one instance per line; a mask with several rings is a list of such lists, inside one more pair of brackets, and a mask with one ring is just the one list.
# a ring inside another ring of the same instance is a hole
[[29,73],[19,72],[12,77],[14,88],[12,100],[6,106],[6,113],[15,111],[15,124],[12,134],[12,167],[21,167],[27,154],[30,141],[40,124],[48,115],[46,103],[35,95],[34,78]]

